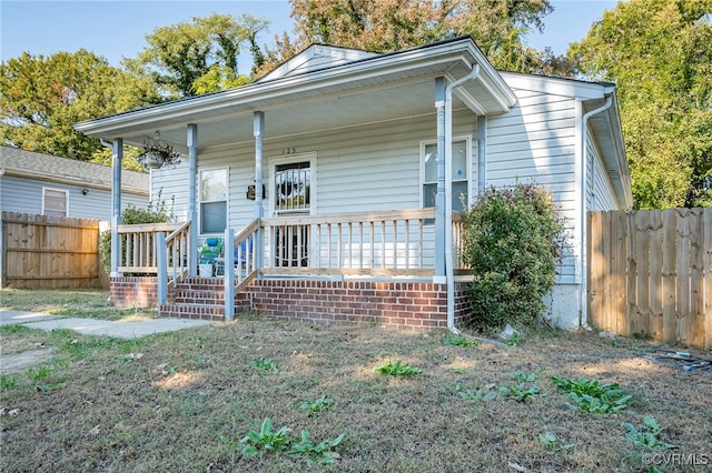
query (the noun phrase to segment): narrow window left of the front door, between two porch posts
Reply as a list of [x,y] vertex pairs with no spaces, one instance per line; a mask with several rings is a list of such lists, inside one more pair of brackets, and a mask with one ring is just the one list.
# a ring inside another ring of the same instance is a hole
[[200,172],[200,233],[222,233],[227,228],[227,169]]

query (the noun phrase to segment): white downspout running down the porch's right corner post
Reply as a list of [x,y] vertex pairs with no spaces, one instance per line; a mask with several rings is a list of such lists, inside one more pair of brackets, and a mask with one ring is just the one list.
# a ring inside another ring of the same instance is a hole
[[479,74],[479,64],[445,88],[445,280],[447,285],[447,330],[455,326],[455,271],[453,269],[453,90]]

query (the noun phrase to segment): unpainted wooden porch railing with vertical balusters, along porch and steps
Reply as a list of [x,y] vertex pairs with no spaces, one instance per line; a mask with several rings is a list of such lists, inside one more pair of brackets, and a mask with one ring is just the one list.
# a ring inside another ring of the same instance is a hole
[[[256,219],[235,235],[230,245],[236,284],[247,284],[258,270],[266,275],[433,275],[434,221],[434,209]],[[465,229],[465,215],[455,213],[456,273],[466,270],[459,262]],[[164,232],[168,233],[168,282],[179,281],[189,270],[189,222],[119,225],[118,271],[157,274],[156,235]],[[218,264],[225,261],[220,259]]]

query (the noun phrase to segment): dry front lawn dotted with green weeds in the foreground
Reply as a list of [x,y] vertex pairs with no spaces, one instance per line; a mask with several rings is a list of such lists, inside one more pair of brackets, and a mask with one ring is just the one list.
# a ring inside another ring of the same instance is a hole
[[2,375],[0,471],[712,471],[712,371],[651,363],[645,340],[256,314],[138,341],[1,334],[57,355]]

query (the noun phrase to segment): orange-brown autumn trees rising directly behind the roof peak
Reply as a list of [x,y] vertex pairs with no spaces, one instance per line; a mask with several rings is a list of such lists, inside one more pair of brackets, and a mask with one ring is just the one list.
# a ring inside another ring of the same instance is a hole
[[493,64],[522,72],[542,70],[547,56],[525,36],[542,31],[548,0],[290,0],[296,39],[275,38],[263,72],[310,43],[390,52],[471,34]]

